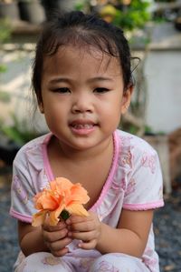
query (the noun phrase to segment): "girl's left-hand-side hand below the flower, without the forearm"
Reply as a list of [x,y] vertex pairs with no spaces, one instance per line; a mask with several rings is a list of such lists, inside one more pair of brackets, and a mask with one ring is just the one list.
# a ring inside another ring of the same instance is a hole
[[43,240],[55,257],[64,256],[69,249],[66,247],[71,243],[71,237],[67,237],[68,229],[64,222],[59,222],[57,226],[50,226],[46,221],[43,224]]

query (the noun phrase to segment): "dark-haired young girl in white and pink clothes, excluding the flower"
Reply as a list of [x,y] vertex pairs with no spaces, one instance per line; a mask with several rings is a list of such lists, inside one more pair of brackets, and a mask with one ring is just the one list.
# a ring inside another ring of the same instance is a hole
[[[15,271],[159,271],[153,210],[163,206],[157,153],[117,130],[133,91],[122,31],[93,15],[43,27],[33,90],[50,133],[14,159],[12,206],[22,253]],[[33,196],[58,176],[80,182],[89,217],[32,227]]]

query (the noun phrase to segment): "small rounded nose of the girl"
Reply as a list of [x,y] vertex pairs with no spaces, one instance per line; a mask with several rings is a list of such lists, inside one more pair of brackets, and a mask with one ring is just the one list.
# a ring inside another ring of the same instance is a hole
[[93,105],[90,96],[80,95],[75,97],[72,104],[72,113],[91,113],[93,111]]

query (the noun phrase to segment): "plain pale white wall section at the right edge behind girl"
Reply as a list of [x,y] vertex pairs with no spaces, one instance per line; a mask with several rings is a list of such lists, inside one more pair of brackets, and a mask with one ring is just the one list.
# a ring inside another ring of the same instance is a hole
[[181,127],[181,51],[151,51],[146,61],[147,123],[169,133]]

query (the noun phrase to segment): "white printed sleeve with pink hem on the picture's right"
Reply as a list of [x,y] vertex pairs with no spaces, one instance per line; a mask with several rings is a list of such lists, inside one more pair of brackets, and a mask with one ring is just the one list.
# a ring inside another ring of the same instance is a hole
[[146,210],[164,206],[163,179],[157,152],[148,148],[133,154],[133,168],[129,173],[123,207]]

